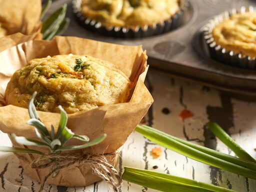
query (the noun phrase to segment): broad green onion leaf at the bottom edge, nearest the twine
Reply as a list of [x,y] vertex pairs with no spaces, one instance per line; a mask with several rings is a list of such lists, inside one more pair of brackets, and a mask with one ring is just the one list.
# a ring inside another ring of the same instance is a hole
[[143,170],[138,168],[124,167],[122,179],[149,188],[161,191],[192,192],[192,191],[215,191],[234,192],[234,190],[198,182],[195,180],[172,176],[160,172]]

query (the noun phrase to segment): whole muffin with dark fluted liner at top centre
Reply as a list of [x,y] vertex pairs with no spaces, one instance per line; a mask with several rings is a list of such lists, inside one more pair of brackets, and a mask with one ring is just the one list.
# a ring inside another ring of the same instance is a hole
[[87,29],[114,37],[146,37],[181,24],[186,0],[73,0],[73,12]]

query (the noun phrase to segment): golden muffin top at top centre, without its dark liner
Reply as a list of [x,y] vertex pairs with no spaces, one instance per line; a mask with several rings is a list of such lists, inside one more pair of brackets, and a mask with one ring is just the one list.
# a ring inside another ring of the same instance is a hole
[[153,25],[179,10],[179,0],[82,0],[82,13],[106,27]]

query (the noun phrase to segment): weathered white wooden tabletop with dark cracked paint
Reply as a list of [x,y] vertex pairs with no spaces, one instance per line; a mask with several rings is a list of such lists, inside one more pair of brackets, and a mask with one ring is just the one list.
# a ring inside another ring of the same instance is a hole
[[[215,139],[204,124],[208,120],[218,122],[248,153],[256,157],[256,103],[234,99],[219,91],[183,80],[149,72],[146,79],[154,103],[145,116],[145,124],[171,135],[233,154],[223,143]],[[182,109],[190,110],[194,116],[180,119]],[[255,113],[254,113],[255,112]],[[0,144],[11,145],[6,134],[0,132]],[[132,166],[170,173],[202,182],[231,188],[237,192],[256,191],[256,181],[220,170],[201,162],[186,158],[171,150],[163,149],[162,155],[154,158],[150,150],[157,146],[137,132],[133,132],[123,145],[116,168]],[[0,152],[0,192],[36,192],[39,183],[30,179],[12,153]],[[47,192],[111,192],[112,189],[100,181],[86,187],[63,187],[45,185]],[[156,191],[123,181],[120,192]],[[174,192],[174,191],[173,191]],[[188,191],[189,192],[189,191]]]

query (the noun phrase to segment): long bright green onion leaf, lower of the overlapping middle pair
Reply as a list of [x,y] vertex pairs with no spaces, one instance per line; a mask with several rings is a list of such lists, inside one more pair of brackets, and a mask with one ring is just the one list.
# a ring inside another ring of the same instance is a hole
[[187,146],[181,142],[178,142],[175,139],[170,138],[168,134],[159,130],[157,131],[152,127],[149,128],[137,125],[135,131],[141,133],[143,136],[155,142],[156,144],[171,149],[189,158],[256,180],[255,170],[251,170],[249,168],[245,168],[243,166],[225,161],[223,159],[219,159],[215,156],[209,155],[200,150]]

